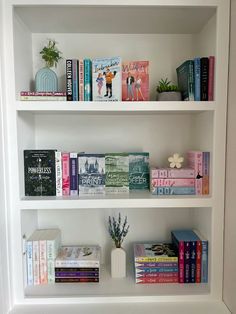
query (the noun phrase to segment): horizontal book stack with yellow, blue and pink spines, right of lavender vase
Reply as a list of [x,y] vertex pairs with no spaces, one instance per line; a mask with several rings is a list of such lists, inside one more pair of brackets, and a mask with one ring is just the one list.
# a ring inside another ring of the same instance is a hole
[[178,282],[178,251],[172,243],[134,244],[135,282]]

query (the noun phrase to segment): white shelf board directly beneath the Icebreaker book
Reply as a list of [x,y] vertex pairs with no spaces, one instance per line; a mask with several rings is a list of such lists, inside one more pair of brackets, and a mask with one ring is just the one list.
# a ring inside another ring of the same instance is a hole
[[68,101],[16,101],[18,112],[69,113],[75,114],[155,114],[155,113],[199,113],[215,111],[216,103],[197,101],[149,101],[149,102],[68,102]]

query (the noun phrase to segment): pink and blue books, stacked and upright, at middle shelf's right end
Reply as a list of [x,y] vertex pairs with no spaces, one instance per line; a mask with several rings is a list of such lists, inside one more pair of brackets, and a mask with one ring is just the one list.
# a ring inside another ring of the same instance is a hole
[[187,152],[188,168],[151,169],[154,195],[209,195],[210,153]]

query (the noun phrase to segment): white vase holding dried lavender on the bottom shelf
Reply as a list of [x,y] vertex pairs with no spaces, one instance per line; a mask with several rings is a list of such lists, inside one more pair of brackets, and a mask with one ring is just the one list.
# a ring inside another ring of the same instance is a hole
[[122,223],[121,215],[119,213],[118,220],[109,216],[109,234],[115,243],[115,248],[111,251],[111,276],[113,278],[126,277],[126,252],[121,247],[124,238],[129,231],[129,225],[127,224],[127,216]]

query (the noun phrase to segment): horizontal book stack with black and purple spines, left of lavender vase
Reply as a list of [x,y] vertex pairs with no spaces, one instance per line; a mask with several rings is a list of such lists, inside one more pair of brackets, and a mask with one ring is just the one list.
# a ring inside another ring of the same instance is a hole
[[55,282],[99,282],[101,248],[62,246],[55,260]]

